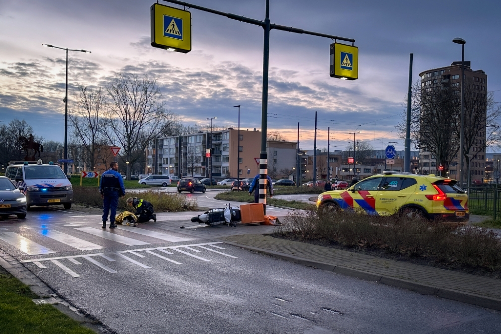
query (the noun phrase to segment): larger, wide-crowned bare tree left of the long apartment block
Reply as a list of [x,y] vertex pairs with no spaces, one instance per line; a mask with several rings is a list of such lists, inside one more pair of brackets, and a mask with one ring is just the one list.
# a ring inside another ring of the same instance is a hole
[[[168,132],[177,122],[177,115],[165,110],[165,101],[156,80],[139,78],[135,74],[121,72],[112,79],[107,92],[110,98],[107,109],[107,127],[122,146],[122,159],[130,166],[140,158],[135,151],[143,151],[160,134]],[[108,138],[111,140],[110,133]]]

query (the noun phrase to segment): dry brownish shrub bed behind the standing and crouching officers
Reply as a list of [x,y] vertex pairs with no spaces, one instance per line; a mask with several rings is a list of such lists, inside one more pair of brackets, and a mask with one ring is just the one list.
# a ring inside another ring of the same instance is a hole
[[[196,200],[190,200],[186,196],[177,193],[162,193],[154,190],[144,192],[127,191],[125,197],[118,201],[119,210],[130,210],[125,202],[128,197],[142,198],[150,202],[155,207],[155,212],[180,212],[195,211],[197,208]],[[103,200],[98,189],[89,187],[77,187],[73,189],[73,199],[75,204],[102,208]]]

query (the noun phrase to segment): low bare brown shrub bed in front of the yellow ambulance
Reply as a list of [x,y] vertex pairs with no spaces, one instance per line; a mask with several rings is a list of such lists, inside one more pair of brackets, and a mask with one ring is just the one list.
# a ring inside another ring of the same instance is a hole
[[322,241],[348,248],[378,249],[387,254],[425,260],[449,269],[479,269],[501,275],[501,240],[484,228],[455,228],[437,221],[353,212],[318,215],[315,210],[288,215],[277,236]]

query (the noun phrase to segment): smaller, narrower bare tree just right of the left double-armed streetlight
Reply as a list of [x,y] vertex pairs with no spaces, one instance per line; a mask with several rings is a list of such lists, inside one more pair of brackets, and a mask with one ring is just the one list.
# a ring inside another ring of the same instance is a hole
[[97,152],[105,144],[103,112],[106,106],[104,92],[101,88],[92,89],[78,86],[77,106],[69,114],[70,124],[77,142],[82,146],[83,165],[88,170],[96,166]]

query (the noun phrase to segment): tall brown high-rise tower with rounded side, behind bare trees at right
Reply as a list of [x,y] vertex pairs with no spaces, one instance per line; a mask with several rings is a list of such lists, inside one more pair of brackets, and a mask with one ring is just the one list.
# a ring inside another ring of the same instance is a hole
[[[447,88],[452,88],[455,95],[461,94],[461,62],[453,62],[450,66],[441,67],[423,71],[419,74],[421,77],[422,92],[439,91]],[[422,93],[424,94],[424,93]],[[465,117],[468,115],[475,116],[478,113],[486,118],[486,99],[487,99],[487,74],[482,70],[472,70],[471,62],[464,62],[464,95],[465,95]],[[458,99],[460,101],[460,99]],[[467,110],[467,108],[471,108]],[[460,113],[459,108],[457,112]],[[423,112],[426,109],[423,108]],[[459,116],[457,117],[459,119]],[[465,122],[465,133],[468,131],[468,121]],[[485,123],[482,124],[485,127]],[[480,128],[482,128],[480,126]],[[471,131],[470,131],[471,133]],[[426,135],[426,130],[421,131],[421,136]],[[484,181],[485,175],[485,128],[480,129],[476,134],[473,134],[473,146],[469,151],[471,156],[470,175],[471,181]],[[459,141],[457,141],[459,142]],[[438,174],[438,166],[436,157],[425,148],[419,151],[419,165],[422,174]],[[465,172],[468,169],[465,159]],[[447,176],[447,175],[442,175]],[[451,178],[459,178],[459,159],[457,156],[452,160],[449,166],[449,175]],[[466,178],[465,178],[466,180]]]

